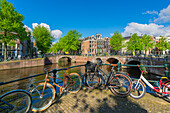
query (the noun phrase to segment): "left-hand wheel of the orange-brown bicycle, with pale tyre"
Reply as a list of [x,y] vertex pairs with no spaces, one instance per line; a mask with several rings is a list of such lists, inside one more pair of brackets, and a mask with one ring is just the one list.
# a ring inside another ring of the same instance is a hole
[[31,90],[32,96],[32,111],[43,111],[47,109],[53,102],[55,98],[55,89],[54,87],[47,83],[43,97],[41,97],[43,91],[44,83],[40,83],[33,90]]

